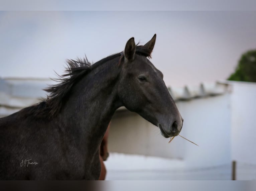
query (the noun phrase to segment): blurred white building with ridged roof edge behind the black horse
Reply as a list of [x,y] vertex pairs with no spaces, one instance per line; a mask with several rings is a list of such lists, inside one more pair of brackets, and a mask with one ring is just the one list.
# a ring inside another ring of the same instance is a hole
[[[48,79],[0,79],[0,116],[38,102]],[[169,89],[184,118],[169,139],[136,113],[119,108],[109,132],[108,180],[256,179],[256,83],[223,81]]]

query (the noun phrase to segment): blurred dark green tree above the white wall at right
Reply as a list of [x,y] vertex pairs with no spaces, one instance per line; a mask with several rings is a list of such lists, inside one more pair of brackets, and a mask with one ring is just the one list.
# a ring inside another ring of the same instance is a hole
[[236,71],[227,80],[256,82],[256,50],[241,56]]

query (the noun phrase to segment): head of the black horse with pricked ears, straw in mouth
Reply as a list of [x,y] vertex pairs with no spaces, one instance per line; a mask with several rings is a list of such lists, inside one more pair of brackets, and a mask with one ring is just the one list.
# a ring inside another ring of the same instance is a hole
[[130,38],[125,46],[118,96],[123,105],[160,128],[164,137],[177,136],[183,119],[164,81],[163,74],[149,61],[156,35],[144,46]]

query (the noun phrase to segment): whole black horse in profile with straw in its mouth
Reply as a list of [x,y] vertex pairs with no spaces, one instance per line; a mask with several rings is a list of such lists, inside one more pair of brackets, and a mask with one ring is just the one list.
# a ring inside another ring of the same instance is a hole
[[145,45],[130,38],[122,52],[91,64],[67,60],[59,83],[35,105],[0,118],[1,180],[98,180],[99,146],[117,108],[125,106],[177,136],[183,119],[150,62],[156,34]]

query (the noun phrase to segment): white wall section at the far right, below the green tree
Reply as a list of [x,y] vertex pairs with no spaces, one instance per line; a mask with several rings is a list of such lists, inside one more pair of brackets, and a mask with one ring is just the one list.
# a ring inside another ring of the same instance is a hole
[[256,83],[234,83],[232,160],[256,164]]

